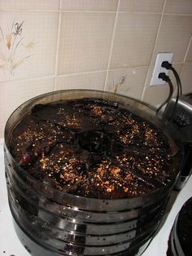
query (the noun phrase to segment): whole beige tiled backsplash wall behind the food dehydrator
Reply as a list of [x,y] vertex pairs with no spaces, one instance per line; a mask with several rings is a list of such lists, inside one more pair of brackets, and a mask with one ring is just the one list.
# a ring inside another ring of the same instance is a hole
[[191,0],[1,0],[0,137],[15,108],[51,90],[161,104],[168,85],[149,86],[158,52],[173,52],[192,91],[191,33]]

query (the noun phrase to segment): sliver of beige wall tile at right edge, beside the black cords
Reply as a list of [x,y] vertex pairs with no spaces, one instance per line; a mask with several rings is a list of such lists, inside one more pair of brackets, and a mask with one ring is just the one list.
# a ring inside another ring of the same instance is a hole
[[180,77],[183,93],[192,92],[192,63],[183,64]]

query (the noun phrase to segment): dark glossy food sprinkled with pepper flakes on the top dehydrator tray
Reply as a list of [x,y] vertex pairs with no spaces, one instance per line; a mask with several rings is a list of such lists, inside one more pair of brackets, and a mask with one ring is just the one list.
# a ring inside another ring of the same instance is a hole
[[42,183],[94,198],[141,196],[174,177],[161,130],[116,102],[74,99],[37,104],[15,126],[11,153]]

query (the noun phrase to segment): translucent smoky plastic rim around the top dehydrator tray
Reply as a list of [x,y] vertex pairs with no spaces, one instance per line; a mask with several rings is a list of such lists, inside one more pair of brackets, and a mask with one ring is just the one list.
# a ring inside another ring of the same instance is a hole
[[[9,149],[8,149],[7,126],[8,126],[8,124],[9,124],[10,120],[11,120],[12,115],[13,115],[15,112],[17,112],[18,109],[22,108],[24,105],[29,104],[29,103],[32,103],[32,102],[35,102],[36,99],[43,99],[45,96],[60,94],[60,93],[63,93],[63,92],[65,92],[66,94],[72,93],[72,92],[80,92],[80,93],[81,93],[81,92],[82,92],[82,93],[83,93],[83,92],[85,92],[85,93],[88,93],[88,92],[89,92],[89,93],[100,93],[101,95],[111,95],[111,97],[119,97],[119,98],[124,99],[124,100],[128,100],[128,99],[129,99],[129,100],[133,100],[133,102],[137,102],[137,104],[142,105],[142,106],[144,106],[146,109],[148,108],[148,109],[150,109],[152,112],[155,113],[155,108],[151,107],[149,104],[142,103],[141,101],[139,101],[139,100],[137,100],[137,99],[133,99],[133,98],[128,97],[128,96],[119,95],[119,94],[114,94],[114,93],[112,93],[112,92],[103,91],[103,90],[86,90],[86,89],[85,89],[85,90],[84,90],[84,89],[55,90],[55,91],[51,91],[51,92],[48,92],[48,93],[45,93],[45,94],[37,95],[37,96],[35,96],[35,97],[31,98],[31,99],[28,99],[28,100],[25,101],[23,104],[20,104],[20,106],[19,106],[18,108],[15,108],[15,111],[14,111],[13,113],[11,113],[10,117],[9,117],[8,120],[7,120],[7,123],[6,123],[6,126],[5,126],[5,130],[4,130],[4,150],[6,150],[7,152],[9,152],[9,155],[11,156],[11,161],[13,161],[13,162],[15,163],[15,166],[18,166],[18,167],[20,168],[20,170],[24,171],[24,174],[26,174],[29,179],[32,179],[33,181],[35,181],[35,182],[41,184],[41,186],[44,187],[44,188],[47,188],[47,186],[46,186],[45,184],[42,184],[40,180],[35,179],[35,178],[33,177],[33,175],[28,174],[28,172],[27,172],[26,170],[24,170],[24,169],[18,164],[18,162],[15,161],[14,157],[12,157],[11,152],[10,152]],[[83,97],[82,97],[82,98],[83,98]],[[97,98],[95,98],[95,99],[97,99]],[[98,99],[99,99],[99,98],[98,98]],[[101,99],[101,98],[100,98],[100,99]],[[110,99],[108,99],[108,100],[110,100]],[[118,101],[117,101],[117,102],[118,102]],[[136,113],[136,114],[137,114],[137,113]],[[166,119],[164,119],[164,117],[162,117],[162,115],[160,115],[159,113],[158,113],[158,114],[155,113],[155,117],[157,118],[157,119],[155,119],[155,121],[157,121],[157,124],[158,124],[157,128],[159,128],[160,130],[162,130],[163,133],[164,133],[164,130],[163,130],[164,128],[163,128],[163,127],[160,127],[162,124],[160,124],[159,119],[160,119],[160,121],[162,121],[162,122],[164,123],[165,126],[170,126],[170,127],[172,128],[172,131],[174,131],[176,137],[178,137],[178,138],[180,137],[180,135],[178,134],[178,132],[177,132],[177,130],[175,129],[175,127],[172,126],[172,124],[171,124],[170,122],[168,122]],[[158,118],[159,118],[159,119],[158,119]],[[22,117],[20,117],[20,119],[22,119]],[[18,122],[19,122],[19,121],[18,121]],[[17,123],[18,123],[18,122],[17,122]],[[164,134],[167,135],[167,133],[164,133]],[[171,136],[168,135],[168,137],[169,137],[169,139],[172,139]],[[174,141],[174,143],[175,143],[175,141]],[[183,145],[180,144],[179,148],[181,148],[180,154],[183,155]],[[183,157],[182,157],[182,161],[183,161]],[[181,167],[181,165],[180,165],[180,167]],[[168,183],[168,185],[165,185],[165,186],[162,187],[162,188],[158,188],[157,190],[155,190],[155,192],[151,192],[151,193],[149,193],[149,194],[142,195],[142,196],[127,197],[127,198],[120,198],[120,199],[91,198],[91,197],[85,197],[85,196],[76,196],[76,195],[73,195],[73,194],[68,193],[68,192],[62,192],[62,191],[59,191],[57,188],[50,188],[50,189],[51,189],[52,191],[55,191],[56,193],[58,193],[58,194],[61,195],[61,196],[65,196],[65,195],[66,195],[66,196],[71,197],[72,199],[76,198],[76,200],[78,200],[78,199],[85,200],[85,201],[88,202],[88,204],[89,204],[89,202],[92,202],[92,203],[93,203],[94,201],[95,201],[95,203],[96,203],[96,202],[101,202],[101,201],[113,201],[113,202],[119,202],[119,203],[122,202],[122,203],[123,203],[123,202],[128,201],[128,200],[130,201],[130,204],[131,204],[131,203],[134,203],[134,201],[135,201],[135,202],[137,202],[137,201],[145,201],[145,199],[146,199],[148,196],[155,196],[155,195],[158,194],[159,192],[164,191],[165,188],[168,188],[168,187],[169,187],[169,189],[172,189],[172,188],[174,187],[175,183],[177,182],[178,177],[179,177],[179,174],[180,174],[179,169],[180,169],[180,168],[178,167],[177,177],[176,177],[176,179],[175,179],[174,182]]]

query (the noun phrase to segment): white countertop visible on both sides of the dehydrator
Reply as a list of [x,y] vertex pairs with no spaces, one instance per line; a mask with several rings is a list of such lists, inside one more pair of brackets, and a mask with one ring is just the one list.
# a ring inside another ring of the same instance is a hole
[[[181,206],[190,196],[192,196],[192,176],[181,192],[172,192],[164,218],[164,225],[142,256],[166,256],[168,236],[172,224]],[[2,139],[0,139],[0,223],[0,256],[29,256],[30,254],[24,249],[24,246],[21,245],[16,236],[12,224],[11,212],[7,201]]]

